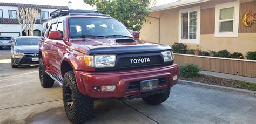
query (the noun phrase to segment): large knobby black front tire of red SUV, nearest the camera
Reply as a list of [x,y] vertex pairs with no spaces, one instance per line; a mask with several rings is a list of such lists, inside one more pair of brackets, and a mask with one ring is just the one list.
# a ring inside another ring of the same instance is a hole
[[71,122],[82,123],[91,118],[94,100],[79,92],[73,71],[64,75],[62,94],[66,116]]

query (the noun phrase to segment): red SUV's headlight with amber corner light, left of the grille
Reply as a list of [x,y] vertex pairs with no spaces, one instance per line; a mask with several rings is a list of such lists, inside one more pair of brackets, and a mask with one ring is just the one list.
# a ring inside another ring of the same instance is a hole
[[114,67],[116,64],[116,55],[105,54],[105,55],[85,55],[85,64],[89,67],[103,68],[103,67]]

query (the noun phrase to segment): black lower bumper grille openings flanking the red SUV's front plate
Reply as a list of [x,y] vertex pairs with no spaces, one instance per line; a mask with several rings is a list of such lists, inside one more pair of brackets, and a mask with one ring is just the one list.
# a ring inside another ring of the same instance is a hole
[[[168,77],[158,78],[158,86],[168,85]],[[140,90],[140,81],[130,82],[127,91]]]

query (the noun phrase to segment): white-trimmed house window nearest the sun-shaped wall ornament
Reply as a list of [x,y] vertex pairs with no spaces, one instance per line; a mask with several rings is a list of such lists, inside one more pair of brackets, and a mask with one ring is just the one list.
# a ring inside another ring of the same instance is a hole
[[215,37],[238,37],[239,1],[215,6]]

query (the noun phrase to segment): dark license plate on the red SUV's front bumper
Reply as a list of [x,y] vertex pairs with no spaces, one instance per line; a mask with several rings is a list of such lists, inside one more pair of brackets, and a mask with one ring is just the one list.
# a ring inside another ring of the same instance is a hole
[[140,92],[151,92],[158,89],[158,79],[143,80],[140,82]]

